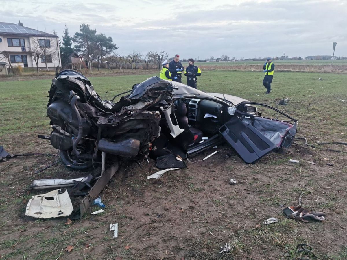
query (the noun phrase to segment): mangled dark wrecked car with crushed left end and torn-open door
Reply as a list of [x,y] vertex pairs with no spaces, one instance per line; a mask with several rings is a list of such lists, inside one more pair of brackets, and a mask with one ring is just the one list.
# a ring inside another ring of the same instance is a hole
[[[254,163],[288,148],[296,134],[297,120],[291,116],[235,96],[205,93],[155,76],[129,92],[113,103],[103,100],[77,70],[56,73],[47,107],[53,130],[46,139],[59,150],[65,166],[104,168],[106,156],[186,158],[222,143],[246,163]],[[267,118],[260,107],[285,119]]]

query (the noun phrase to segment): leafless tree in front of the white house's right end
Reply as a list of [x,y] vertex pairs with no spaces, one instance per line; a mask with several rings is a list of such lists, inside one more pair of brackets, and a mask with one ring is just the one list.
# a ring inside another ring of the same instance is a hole
[[32,39],[30,45],[31,51],[40,55],[41,62],[45,63],[46,69],[47,71],[49,71],[47,63],[52,62],[52,60],[56,59],[58,55],[58,48],[56,44],[53,44],[53,46],[51,46],[50,38],[35,37]]

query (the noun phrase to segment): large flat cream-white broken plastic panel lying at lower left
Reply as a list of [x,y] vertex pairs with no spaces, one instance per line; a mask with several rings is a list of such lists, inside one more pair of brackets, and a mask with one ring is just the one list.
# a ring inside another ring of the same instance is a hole
[[35,218],[67,217],[73,210],[67,190],[58,189],[31,197],[25,215]]

